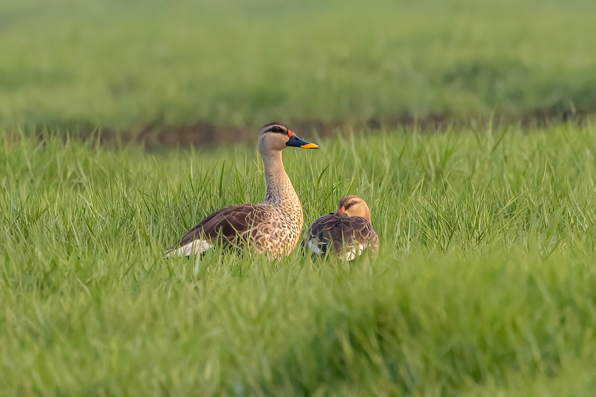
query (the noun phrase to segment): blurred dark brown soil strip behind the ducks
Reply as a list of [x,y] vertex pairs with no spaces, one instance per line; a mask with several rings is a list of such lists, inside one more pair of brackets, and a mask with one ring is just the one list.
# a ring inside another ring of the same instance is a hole
[[[402,132],[445,132],[447,130],[485,129],[489,126],[507,126],[532,130],[554,124],[585,124],[589,117],[596,115],[596,106],[589,111],[557,112],[554,110],[534,110],[522,115],[453,115],[430,114],[424,117],[399,115],[383,120],[371,119],[362,122],[346,121],[287,121],[288,126],[299,136],[308,139],[313,135],[335,136],[351,132],[374,132],[379,130]],[[71,137],[93,140],[100,145],[142,145],[147,151],[172,147],[205,147],[231,145],[254,141],[259,127],[216,126],[209,123],[196,123],[189,126],[167,126],[147,124],[136,130],[115,130],[90,125],[79,125],[70,129]]]

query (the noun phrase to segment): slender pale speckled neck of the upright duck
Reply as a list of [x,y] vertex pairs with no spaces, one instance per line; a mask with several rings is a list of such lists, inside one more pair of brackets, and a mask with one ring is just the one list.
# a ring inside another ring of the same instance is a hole
[[261,153],[265,170],[265,203],[285,208],[296,208],[302,212],[300,199],[294,190],[290,177],[285,173],[281,151]]

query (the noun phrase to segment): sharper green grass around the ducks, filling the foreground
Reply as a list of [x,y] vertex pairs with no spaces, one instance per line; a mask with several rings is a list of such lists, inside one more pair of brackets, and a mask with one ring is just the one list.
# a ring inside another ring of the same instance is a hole
[[164,260],[254,148],[0,141],[0,394],[592,395],[591,126],[303,137],[306,222],[359,194],[378,258]]

